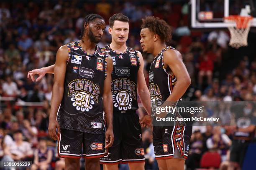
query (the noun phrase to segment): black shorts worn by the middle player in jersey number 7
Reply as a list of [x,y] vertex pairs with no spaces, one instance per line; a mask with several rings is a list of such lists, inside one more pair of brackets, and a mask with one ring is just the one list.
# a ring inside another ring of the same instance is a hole
[[114,143],[108,154],[100,158],[101,164],[144,162],[141,125],[136,112],[113,113]]

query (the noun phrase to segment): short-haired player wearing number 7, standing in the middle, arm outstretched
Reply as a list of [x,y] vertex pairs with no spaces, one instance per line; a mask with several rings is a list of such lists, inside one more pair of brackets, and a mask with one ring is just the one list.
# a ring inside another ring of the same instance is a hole
[[[131,47],[126,46],[129,33],[129,19],[123,14],[114,14],[109,19],[110,45],[103,47],[113,58],[111,91],[113,94],[113,131],[115,140],[108,149],[108,155],[100,162],[105,170],[118,170],[118,163],[128,163],[132,170],[144,169],[144,150],[141,140],[141,125],[136,110],[138,109],[137,93],[148,114],[150,95],[143,74],[143,57]],[[51,73],[54,65],[32,70],[28,73],[39,74],[40,80],[45,73]],[[36,81],[37,81],[36,80]]]

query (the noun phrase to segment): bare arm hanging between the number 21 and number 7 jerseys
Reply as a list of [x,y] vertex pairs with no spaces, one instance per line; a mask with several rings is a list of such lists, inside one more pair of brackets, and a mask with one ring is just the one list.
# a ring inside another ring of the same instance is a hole
[[109,148],[113,145],[114,134],[113,134],[113,98],[111,93],[111,73],[113,70],[113,60],[112,57],[107,58],[107,76],[104,80],[104,91],[103,91],[103,108],[106,113],[107,120],[107,131],[106,131],[106,146]]

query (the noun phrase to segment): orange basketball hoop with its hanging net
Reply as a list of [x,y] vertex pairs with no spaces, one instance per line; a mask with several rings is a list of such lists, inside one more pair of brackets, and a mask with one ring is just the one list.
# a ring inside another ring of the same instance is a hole
[[[224,18],[225,23],[230,23],[228,30],[230,31],[229,45],[234,48],[247,46],[247,37],[251,26],[251,16],[230,15]],[[233,25],[236,23],[235,25]]]

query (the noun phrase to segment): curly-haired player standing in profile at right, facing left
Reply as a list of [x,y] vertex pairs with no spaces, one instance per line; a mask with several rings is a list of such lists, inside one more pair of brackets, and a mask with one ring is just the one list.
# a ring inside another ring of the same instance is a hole
[[[149,84],[151,102],[177,103],[186,92],[191,80],[182,62],[181,54],[166,42],[171,39],[171,28],[155,17],[146,17],[141,25],[141,47],[143,52],[153,54]],[[165,116],[165,115],[164,115]],[[156,121],[155,117],[153,121]],[[149,125],[151,117],[144,116],[142,125]],[[153,124],[153,144],[160,170],[184,170],[189,149],[192,126],[156,126]]]

